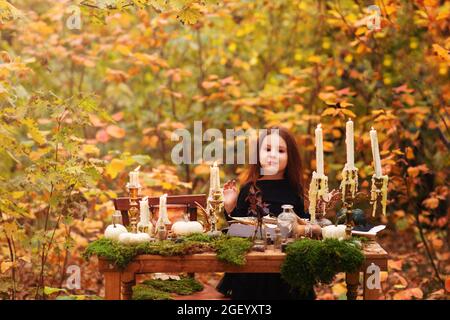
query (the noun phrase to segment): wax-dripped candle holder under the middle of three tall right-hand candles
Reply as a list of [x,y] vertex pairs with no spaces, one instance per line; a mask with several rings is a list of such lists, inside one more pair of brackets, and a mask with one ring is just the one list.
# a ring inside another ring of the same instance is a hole
[[352,236],[352,229],[353,229],[352,210],[357,191],[358,191],[358,169],[344,168],[344,170],[342,171],[341,193],[342,193],[342,202],[345,207],[345,217],[346,217],[345,234],[347,238],[350,238]]

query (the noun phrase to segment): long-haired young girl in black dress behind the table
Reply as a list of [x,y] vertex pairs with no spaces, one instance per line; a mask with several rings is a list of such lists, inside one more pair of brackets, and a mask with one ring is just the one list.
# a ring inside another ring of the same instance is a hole
[[[250,165],[243,187],[237,192],[234,181],[224,185],[225,211],[230,216],[252,216],[254,209],[249,194],[255,189],[262,194],[266,213],[278,216],[281,206],[291,204],[301,218],[308,218],[304,210],[304,184],[300,154],[294,136],[283,127],[272,127],[259,137],[257,163]],[[319,236],[317,225],[298,225],[298,235]],[[232,299],[314,299],[314,289],[307,296],[299,296],[280,277],[279,273],[225,274],[218,290]]]

